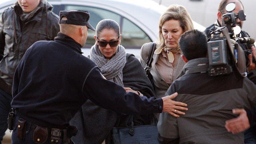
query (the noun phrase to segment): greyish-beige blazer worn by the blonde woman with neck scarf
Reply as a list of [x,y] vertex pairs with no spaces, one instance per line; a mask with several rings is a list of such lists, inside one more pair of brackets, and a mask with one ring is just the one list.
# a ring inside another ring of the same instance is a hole
[[[141,47],[141,63],[143,65],[143,67],[146,66],[146,62],[147,62],[147,58],[148,58],[148,55],[150,52],[151,45],[152,45],[152,42],[149,42],[149,43],[145,43]],[[164,81],[163,77],[159,73],[158,68],[156,67],[158,57],[159,57],[159,54],[153,55],[152,68],[150,70],[150,73],[153,76],[154,91],[155,91],[156,97],[160,98],[165,95],[167,89],[169,88],[169,85]],[[173,81],[175,81],[177,79],[177,77],[181,74],[182,68],[184,67],[184,65],[185,65],[185,62],[180,57],[178,60],[177,68],[173,72],[173,74],[174,74]]]

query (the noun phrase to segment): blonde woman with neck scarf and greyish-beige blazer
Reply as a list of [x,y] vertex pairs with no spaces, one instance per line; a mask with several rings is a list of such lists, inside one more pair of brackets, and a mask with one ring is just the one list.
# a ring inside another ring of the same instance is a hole
[[[161,15],[159,20],[159,41],[153,51],[150,74],[153,77],[154,92],[158,97],[163,97],[173,81],[182,72],[185,62],[178,45],[179,37],[185,31],[194,29],[192,19],[184,6],[170,5]],[[141,63],[145,67],[149,57],[152,42],[141,47]],[[186,104],[173,101],[175,117],[184,115]]]

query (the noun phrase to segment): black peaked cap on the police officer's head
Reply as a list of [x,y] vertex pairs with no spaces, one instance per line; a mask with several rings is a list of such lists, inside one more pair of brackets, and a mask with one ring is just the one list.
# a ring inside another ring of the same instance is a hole
[[[66,17],[67,20],[62,18]],[[61,10],[60,24],[74,24],[79,26],[87,26],[89,29],[95,31],[93,26],[89,23],[90,13],[84,10]]]

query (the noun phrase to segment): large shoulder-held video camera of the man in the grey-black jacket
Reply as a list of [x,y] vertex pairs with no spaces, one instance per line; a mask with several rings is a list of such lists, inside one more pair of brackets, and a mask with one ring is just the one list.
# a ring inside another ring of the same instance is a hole
[[[211,32],[209,38],[208,56],[210,76],[230,74],[234,67],[237,67],[240,74],[244,77],[246,73],[246,56],[240,44],[254,43],[251,38],[239,38],[237,35],[241,32],[241,27],[237,25],[237,19],[246,20],[243,10],[238,14],[233,13],[235,3],[228,3],[225,7],[228,13],[223,15],[223,22],[226,26],[220,27]],[[249,53],[248,53],[249,54]]]

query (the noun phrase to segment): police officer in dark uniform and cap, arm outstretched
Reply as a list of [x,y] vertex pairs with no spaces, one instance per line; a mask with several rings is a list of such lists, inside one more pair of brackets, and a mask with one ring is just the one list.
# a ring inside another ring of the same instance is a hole
[[87,99],[125,114],[172,111],[168,107],[177,93],[140,97],[104,79],[82,55],[88,29],[95,30],[88,20],[88,11],[61,11],[55,40],[38,41],[24,54],[13,81],[13,144],[72,143],[75,130],[69,121]]

